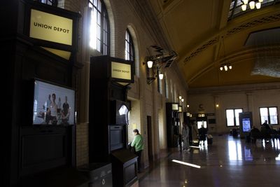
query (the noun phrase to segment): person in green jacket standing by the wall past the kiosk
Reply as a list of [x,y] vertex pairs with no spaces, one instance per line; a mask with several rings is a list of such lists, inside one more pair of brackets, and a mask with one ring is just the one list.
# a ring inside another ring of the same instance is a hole
[[134,129],[134,139],[132,141],[131,146],[135,148],[135,154],[138,156],[137,158],[137,167],[138,172],[141,172],[141,153],[144,150],[144,141],[141,134],[139,134],[139,130]]

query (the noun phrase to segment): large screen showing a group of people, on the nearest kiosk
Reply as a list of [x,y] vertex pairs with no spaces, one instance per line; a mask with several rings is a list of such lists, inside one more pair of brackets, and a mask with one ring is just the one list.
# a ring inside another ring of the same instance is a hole
[[34,81],[33,125],[73,125],[75,91]]

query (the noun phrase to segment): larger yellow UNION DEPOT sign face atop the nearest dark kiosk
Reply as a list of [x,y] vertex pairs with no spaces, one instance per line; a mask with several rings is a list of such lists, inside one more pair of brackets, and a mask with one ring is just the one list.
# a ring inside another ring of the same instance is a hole
[[34,39],[72,45],[73,20],[31,9],[30,33]]

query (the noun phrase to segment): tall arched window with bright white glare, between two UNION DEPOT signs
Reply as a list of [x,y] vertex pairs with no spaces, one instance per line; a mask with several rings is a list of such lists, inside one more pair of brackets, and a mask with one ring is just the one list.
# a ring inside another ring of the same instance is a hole
[[109,18],[102,0],[89,0],[92,8],[90,20],[90,47],[103,55],[109,54]]

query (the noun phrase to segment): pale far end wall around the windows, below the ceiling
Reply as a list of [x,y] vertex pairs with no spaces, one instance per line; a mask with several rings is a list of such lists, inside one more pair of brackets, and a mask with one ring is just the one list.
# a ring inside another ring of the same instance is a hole
[[[260,107],[278,107],[280,110],[280,83],[258,85],[227,86],[220,88],[190,89],[188,92],[188,111],[195,113],[214,113],[216,118],[214,132],[229,133],[232,127],[226,126],[226,109],[243,109],[253,114],[253,125],[260,128]],[[216,107],[216,104],[219,106]],[[279,128],[280,125],[274,125]]]

